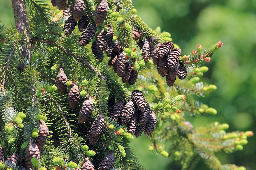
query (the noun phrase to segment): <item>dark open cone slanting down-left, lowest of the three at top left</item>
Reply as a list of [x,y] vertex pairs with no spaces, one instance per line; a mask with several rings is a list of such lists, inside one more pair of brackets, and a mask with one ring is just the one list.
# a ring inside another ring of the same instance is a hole
[[91,42],[96,33],[96,23],[91,23],[83,29],[83,32],[79,36],[78,43],[81,46],[85,46]]

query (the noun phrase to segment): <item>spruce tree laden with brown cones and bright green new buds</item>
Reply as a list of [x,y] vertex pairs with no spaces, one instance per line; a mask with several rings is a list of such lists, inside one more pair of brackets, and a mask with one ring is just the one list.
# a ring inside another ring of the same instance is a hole
[[51,3],[12,0],[16,25],[0,25],[1,170],[144,169],[129,146],[143,131],[181,169],[245,169],[215,153],[242,150],[252,131],[184,118],[217,113],[195,96],[216,90],[200,77],[221,41],[184,55],[131,0]]

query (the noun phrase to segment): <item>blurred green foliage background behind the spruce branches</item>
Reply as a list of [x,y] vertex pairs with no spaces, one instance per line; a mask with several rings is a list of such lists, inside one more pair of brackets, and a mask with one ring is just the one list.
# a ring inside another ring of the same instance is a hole
[[[0,0],[0,20],[5,27],[14,23],[11,0]],[[256,124],[256,0],[133,0],[133,6],[152,29],[157,26],[172,34],[182,55],[198,44],[209,48],[218,41],[223,46],[206,66],[204,79],[218,89],[198,100],[218,111],[216,116],[185,117],[196,126],[212,121],[228,123],[227,131],[255,132]],[[218,153],[222,164],[232,163],[256,169],[256,137],[248,138],[242,151]],[[141,135],[131,142],[135,154],[147,170],[178,169],[172,160],[148,151],[150,142]],[[197,169],[200,168],[199,164]],[[202,165],[202,167],[204,167]]]

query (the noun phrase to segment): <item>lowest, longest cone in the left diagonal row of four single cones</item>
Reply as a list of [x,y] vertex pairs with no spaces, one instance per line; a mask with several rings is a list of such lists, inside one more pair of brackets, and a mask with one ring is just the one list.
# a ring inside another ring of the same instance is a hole
[[97,118],[93,121],[89,130],[88,138],[89,138],[90,144],[95,145],[97,143],[104,126],[105,126],[105,117],[102,113],[99,113]]

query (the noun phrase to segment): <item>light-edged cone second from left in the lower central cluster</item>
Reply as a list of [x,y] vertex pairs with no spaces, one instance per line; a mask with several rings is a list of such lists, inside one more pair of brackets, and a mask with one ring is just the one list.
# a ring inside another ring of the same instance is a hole
[[123,125],[126,125],[132,118],[135,108],[132,100],[128,101],[121,112],[120,122]]

